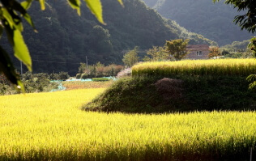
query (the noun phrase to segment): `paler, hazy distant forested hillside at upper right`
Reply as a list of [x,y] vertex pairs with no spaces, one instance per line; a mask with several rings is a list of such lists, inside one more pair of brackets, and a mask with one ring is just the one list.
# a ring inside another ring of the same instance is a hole
[[253,36],[247,31],[241,31],[241,28],[233,23],[234,17],[239,13],[233,9],[233,6],[228,6],[223,1],[215,4],[211,0],[143,1],[165,18],[173,19],[190,32],[215,40],[219,45],[248,40]]

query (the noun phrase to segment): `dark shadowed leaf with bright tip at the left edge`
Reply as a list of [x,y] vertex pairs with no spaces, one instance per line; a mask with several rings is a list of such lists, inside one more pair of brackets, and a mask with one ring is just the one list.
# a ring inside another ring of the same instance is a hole
[[0,73],[3,73],[11,83],[19,86],[18,88],[23,92],[25,91],[23,83],[19,79],[19,75],[15,72],[15,67],[11,62],[11,58],[8,53],[2,49],[2,46],[0,46]]

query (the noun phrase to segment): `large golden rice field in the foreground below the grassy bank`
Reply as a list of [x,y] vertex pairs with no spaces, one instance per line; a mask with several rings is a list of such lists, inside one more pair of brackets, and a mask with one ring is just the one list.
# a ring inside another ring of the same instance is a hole
[[0,96],[0,160],[248,160],[256,148],[256,112],[79,109],[102,91]]

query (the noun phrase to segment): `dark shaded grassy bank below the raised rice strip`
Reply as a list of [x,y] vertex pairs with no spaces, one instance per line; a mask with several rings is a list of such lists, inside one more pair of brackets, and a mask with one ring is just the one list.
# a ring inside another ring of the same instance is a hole
[[256,92],[245,76],[173,75],[123,78],[83,110],[102,112],[191,112],[255,110]]

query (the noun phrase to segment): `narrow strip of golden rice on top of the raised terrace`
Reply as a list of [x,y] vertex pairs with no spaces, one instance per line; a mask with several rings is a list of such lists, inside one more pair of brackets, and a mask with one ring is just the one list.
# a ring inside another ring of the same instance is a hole
[[256,73],[256,59],[211,59],[143,62],[132,68],[132,75],[237,75]]

